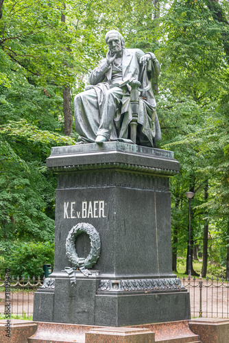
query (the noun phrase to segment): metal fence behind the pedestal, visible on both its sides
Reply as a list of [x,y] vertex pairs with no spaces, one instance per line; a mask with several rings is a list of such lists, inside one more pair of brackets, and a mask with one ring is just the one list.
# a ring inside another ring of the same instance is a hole
[[[0,314],[7,314],[10,302],[10,314],[32,319],[34,292],[43,285],[43,280],[12,277],[6,287],[6,281],[0,279]],[[181,282],[190,293],[191,317],[229,318],[229,279],[203,281],[201,277],[188,277]]]

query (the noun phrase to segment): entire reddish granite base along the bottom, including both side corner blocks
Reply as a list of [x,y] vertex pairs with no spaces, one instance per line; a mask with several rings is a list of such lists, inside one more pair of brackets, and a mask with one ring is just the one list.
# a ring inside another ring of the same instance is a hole
[[[0,320],[1,343],[229,343],[229,320],[195,318],[136,327],[95,327],[76,324]],[[191,330],[190,330],[191,329]],[[193,332],[192,332],[193,331]]]

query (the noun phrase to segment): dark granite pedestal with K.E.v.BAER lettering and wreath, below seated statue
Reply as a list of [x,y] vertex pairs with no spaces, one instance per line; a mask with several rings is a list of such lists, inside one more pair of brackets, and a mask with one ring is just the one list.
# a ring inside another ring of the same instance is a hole
[[[171,271],[173,152],[119,142],[53,147],[47,167],[58,174],[55,259],[34,320],[121,327],[189,319],[189,294]],[[69,272],[69,245],[93,267]]]

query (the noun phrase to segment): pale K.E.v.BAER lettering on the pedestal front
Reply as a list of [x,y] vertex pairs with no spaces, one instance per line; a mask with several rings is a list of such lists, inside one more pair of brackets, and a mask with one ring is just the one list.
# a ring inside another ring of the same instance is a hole
[[64,219],[106,218],[104,200],[64,202]]

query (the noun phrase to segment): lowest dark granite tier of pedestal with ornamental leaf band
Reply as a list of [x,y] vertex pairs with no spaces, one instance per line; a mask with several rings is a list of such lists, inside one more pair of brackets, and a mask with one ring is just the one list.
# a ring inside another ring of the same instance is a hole
[[36,292],[34,320],[121,327],[190,318],[180,279],[101,280],[97,271],[86,277],[78,270],[75,283],[64,271],[53,280],[53,288]]

